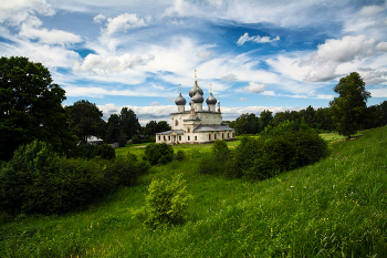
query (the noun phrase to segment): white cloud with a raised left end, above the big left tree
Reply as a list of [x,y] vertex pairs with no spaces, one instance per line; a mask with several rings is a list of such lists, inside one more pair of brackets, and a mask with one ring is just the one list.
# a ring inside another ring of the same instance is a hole
[[65,45],[83,41],[80,35],[74,33],[55,29],[40,29],[41,25],[41,20],[35,17],[30,17],[25,23],[21,24],[19,35],[29,40],[38,40],[40,43],[45,44]]

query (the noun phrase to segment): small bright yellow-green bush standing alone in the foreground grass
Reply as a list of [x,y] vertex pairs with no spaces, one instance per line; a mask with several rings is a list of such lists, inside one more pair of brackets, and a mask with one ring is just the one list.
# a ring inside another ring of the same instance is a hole
[[151,180],[145,206],[136,211],[147,227],[170,227],[185,221],[188,202],[192,196],[187,194],[186,180],[181,177],[182,174],[178,174],[171,180]]

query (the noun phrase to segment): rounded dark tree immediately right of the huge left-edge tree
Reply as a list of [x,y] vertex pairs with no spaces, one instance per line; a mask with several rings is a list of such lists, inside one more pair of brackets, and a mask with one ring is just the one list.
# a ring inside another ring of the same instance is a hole
[[71,116],[71,130],[81,142],[86,143],[92,135],[101,137],[105,122],[102,120],[102,111],[94,103],[81,100],[66,106],[66,110]]

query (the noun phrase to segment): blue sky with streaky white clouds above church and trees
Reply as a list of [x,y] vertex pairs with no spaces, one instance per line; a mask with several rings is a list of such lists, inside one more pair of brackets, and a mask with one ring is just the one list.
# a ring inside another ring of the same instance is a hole
[[328,106],[358,72],[387,100],[387,3],[345,0],[0,0],[0,53],[49,68],[71,105],[123,106],[144,125],[187,103],[195,69],[223,120]]

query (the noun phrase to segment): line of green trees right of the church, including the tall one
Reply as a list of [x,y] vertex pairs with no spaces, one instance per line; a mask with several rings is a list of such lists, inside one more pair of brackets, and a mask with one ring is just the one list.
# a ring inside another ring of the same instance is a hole
[[351,137],[357,130],[369,130],[387,125],[387,101],[367,106],[370,94],[365,90],[365,83],[358,73],[342,78],[334,87],[339,94],[330,102],[328,107],[314,109],[307,106],[300,111],[273,112],[264,110],[260,116],[247,113],[236,121],[229,122],[237,135],[258,134],[270,131],[285,121],[301,124],[302,122],[318,132],[337,131],[341,135]]

